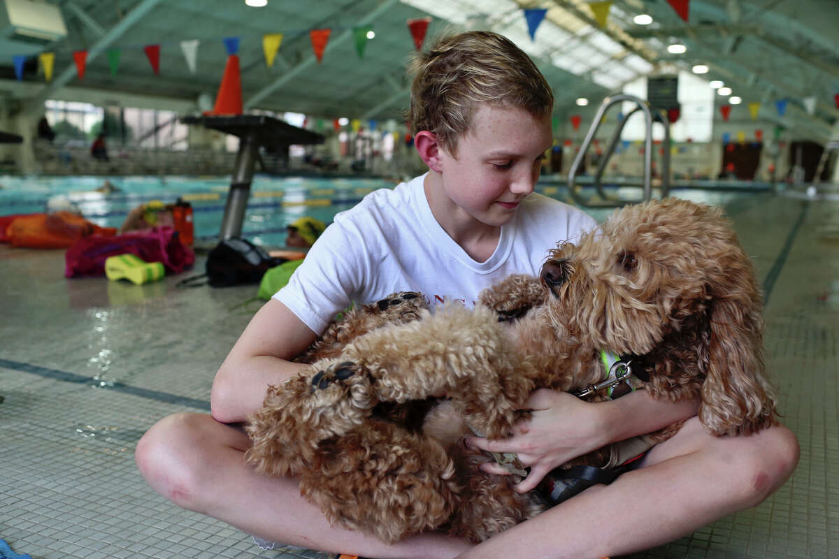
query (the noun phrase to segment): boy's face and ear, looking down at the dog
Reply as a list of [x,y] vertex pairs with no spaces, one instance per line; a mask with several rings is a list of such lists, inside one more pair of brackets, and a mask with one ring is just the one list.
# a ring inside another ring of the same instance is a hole
[[457,142],[457,156],[440,150],[443,189],[474,219],[504,225],[533,192],[552,144],[550,116],[482,105],[472,117],[472,128]]

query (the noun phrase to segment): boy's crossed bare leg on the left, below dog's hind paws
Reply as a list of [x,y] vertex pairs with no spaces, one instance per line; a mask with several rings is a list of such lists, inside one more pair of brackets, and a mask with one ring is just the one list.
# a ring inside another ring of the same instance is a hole
[[151,487],[188,510],[223,520],[268,541],[369,557],[454,557],[470,547],[440,534],[388,546],[373,536],[329,525],[300,497],[294,479],[257,474],[243,453],[250,439],[211,416],[165,417],[140,439],[136,458]]

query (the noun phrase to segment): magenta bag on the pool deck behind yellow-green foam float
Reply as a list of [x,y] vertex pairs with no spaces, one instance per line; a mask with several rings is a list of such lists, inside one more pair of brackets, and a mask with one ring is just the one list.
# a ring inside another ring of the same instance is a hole
[[163,262],[166,272],[178,274],[195,263],[195,252],[180,241],[172,227],[131,231],[120,236],[92,235],[76,241],[65,253],[65,277],[102,276],[105,259],[134,254],[147,262]]

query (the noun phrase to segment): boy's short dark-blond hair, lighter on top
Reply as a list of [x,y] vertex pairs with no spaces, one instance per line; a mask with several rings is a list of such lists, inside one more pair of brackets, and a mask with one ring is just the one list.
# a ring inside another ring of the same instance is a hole
[[414,55],[409,73],[414,75],[411,129],[434,132],[452,155],[480,103],[519,107],[539,118],[553,111],[545,76],[510,39],[496,33],[468,31],[440,39],[429,52]]

